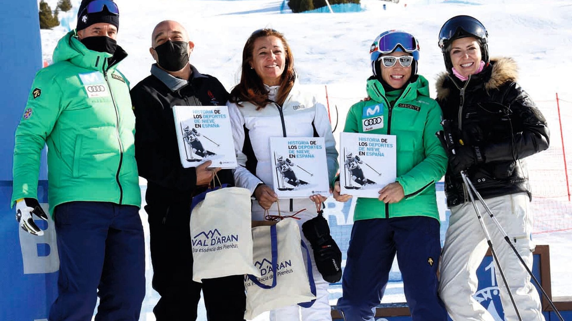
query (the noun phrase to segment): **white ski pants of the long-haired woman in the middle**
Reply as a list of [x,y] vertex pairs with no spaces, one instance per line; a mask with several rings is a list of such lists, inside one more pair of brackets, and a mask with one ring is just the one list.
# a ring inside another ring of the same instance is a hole
[[[295,199],[295,204],[299,203],[300,199]],[[252,206],[252,219],[253,220],[264,220],[264,212],[260,211],[261,207],[257,204],[256,200],[253,200],[254,203]],[[307,210],[297,214],[296,217],[301,219],[297,219],[296,223],[300,227],[300,236],[302,240],[307,244],[308,250],[310,251],[310,256],[312,259],[312,273],[314,276],[314,281],[316,282],[316,302],[312,304],[309,308],[303,308],[298,305],[288,306],[279,308],[276,310],[270,311],[270,321],[332,321],[331,316],[331,307],[329,306],[329,299],[328,299],[328,282],[322,278],[320,272],[316,268],[316,263],[314,260],[314,254],[312,252],[312,248],[310,246],[310,242],[304,237],[304,233],[302,232],[302,224],[307,220],[315,217],[316,213],[316,206],[314,203],[308,199],[308,202],[304,204],[304,207],[299,208],[299,204],[296,204],[293,208],[293,212],[288,212],[289,202],[288,200],[281,199],[280,202],[280,214],[282,216],[292,215],[296,211],[301,210],[302,208],[307,208]],[[276,203],[273,204],[274,206],[271,208],[270,215],[278,215],[277,211],[273,211]]]

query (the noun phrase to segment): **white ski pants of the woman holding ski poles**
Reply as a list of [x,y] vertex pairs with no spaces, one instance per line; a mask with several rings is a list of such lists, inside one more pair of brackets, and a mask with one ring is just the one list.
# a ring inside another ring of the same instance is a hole
[[[532,268],[533,214],[529,210],[529,196],[522,192],[485,199],[485,202],[509,235],[522,259],[529,268]],[[543,321],[540,298],[530,282],[530,275],[484,207],[478,200],[477,203],[522,319]],[[455,321],[494,321],[486,308],[473,297],[478,285],[476,269],[487,249],[488,244],[472,203],[466,202],[451,207],[449,227],[439,265],[439,292],[447,312]],[[518,320],[496,263],[495,274],[496,283],[501,290],[505,320]]]

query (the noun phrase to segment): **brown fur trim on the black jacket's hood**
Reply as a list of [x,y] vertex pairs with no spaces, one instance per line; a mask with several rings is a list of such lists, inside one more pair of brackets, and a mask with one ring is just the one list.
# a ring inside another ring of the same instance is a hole
[[[498,89],[503,83],[515,82],[518,78],[518,66],[517,62],[513,58],[509,57],[496,57],[491,58],[491,77],[484,84],[484,89],[489,91],[491,89]],[[437,100],[443,100],[447,98],[450,89],[444,87],[444,83],[447,80],[448,73],[440,73],[437,76],[435,87],[437,89]]]

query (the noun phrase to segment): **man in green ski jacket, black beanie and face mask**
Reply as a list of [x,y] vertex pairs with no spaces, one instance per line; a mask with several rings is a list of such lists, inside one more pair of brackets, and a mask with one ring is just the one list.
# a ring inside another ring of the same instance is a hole
[[119,11],[112,0],[83,0],[77,29],[35,76],[15,134],[11,199],[23,230],[43,231],[37,200],[47,145],[50,214],[59,255],[58,297],[49,320],[138,320],[145,296],[141,191],[129,83],[117,70]]

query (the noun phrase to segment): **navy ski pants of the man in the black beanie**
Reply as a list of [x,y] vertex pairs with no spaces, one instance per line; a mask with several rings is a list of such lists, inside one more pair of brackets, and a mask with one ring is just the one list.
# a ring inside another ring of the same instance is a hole
[[139,208],[68,202],[54,210],[59,276],[50,321],[137,321],[145,297],[145,238]]

